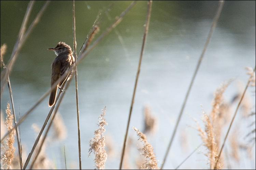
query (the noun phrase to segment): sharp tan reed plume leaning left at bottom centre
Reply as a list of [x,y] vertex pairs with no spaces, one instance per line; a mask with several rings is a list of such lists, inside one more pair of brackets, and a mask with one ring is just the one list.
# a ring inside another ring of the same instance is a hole
[[145,162],[141,165],[140,169],[159,169],[153,147],[152,145],[150,145],[150,143],[147,142],[146,135],[144,135],[134,127],[133,129],[134,131],[137,132],[137,135],[140,137],[139,140],[143,142],[143,148],[140,150],[143,151],[142,155],[146,158]]

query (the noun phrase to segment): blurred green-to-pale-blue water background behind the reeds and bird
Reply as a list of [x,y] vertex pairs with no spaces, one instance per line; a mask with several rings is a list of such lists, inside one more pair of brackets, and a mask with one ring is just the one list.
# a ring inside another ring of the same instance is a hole
[[[102,33],[130,3],[131,1],[76,1],[77,48],[81,47],[99,12],[102,12]],[[1,1],[1,45],[6,43],[8,46],[4,56],[5,63],[11,55],[27,4],[28,1]],[[43,4],[44,1],[35,2],[29,23]],[[10,80],[16,113],[20,113],[20,116],[50,87],[50,66],[55,54],[47,51],[47,48],[55,47],[59,41],[65,41],[73,47],[71,5],[72,1],[52,1],[18,56]],[[112,20],[104,13],[110,5]],[[137,139],[132,126],[143,130],[143,107],[150,106],[158,119],[158,129],[155,135],[148,136],[148,140],[154,147],[159,166],[217,7],[217,1],[153,1],[129,135]],[[94,168],[93,155],[88,158],[89,140],[97,128],[98,117],[104,106],[108,122],[105,134],[112,138],[115,150],[115,155],[106,162],[106,169],[119,167],[146,10],[147,2],[138,1],[116,27],[124,40],[124,46],[115,31],[112,31],[78,66],[83,169]],[[211,111],[215,89],[222,82],[234,78],[225,92],[225,99],[230,101],[238,92],[237,83],[241,81],[245,84],[248,80],[244,68],[254,65],[255,1],[226,1],[188,98],[165,168],[175,168],[201,143],[198,132],[194,129],[196,123],[193,118],[202,123],[201,109],[205,109],[207,113]],[[74,80],[72,81],[59,108],[67,126],[67,138],[61,142],[51,142],[47,146],[47,155],[54,160],[57,169],[64,168],[64,143],[68,166],[78,168],[75,86]],[[253,90],[249,89],[248,95],[252,98],[255,109]],[[10,103],[10,97],[8,87],[5,87],[1,97],[2,111],[7,102]],[[22,145],[27,153],[37,135],[31,125],[36,123],[42,126],[50,109],[47,103],[48,97],[20,126]],[[231,130],[236,129],[235,126],[239,124],[241,128],[238,133],[244,138],[250,131],[247,126],[251,122],[251,119],[241,119],[238,115]],[[181,145],[181,134],[184,133],[187,148]],[[205,152],[203,147],[200,148],[181,168],[208,168]],[[134,164],[134,158],[137,157],[139,151],[134,150],[130,157],[131,164]],[[242,152],[241,157],[240,163],[230,158],[232,168],[255,169],[255,144],[251,159],[245,152]]]

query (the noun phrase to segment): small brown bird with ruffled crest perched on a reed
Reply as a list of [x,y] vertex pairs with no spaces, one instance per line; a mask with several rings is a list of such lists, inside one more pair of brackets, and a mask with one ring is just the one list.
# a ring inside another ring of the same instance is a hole
[[[59,42],[55,48],[48,48],[48,50],[52,50],[55,52],[57,57],[54,59],[52,63],[52,76],[51,76],[51,86],[62,76],[67,73],[69,68],[75,62],[75,58],[73,57],[72,49],[69,45],[64,42]],[[52,90],[50,99],[49,99],[49,107],[52,107],[56,100],[57,89],[60,88],[61,85],[72,75],[73,71],[70,71],[67,78],[63,81],[60,81],[59,84]]]

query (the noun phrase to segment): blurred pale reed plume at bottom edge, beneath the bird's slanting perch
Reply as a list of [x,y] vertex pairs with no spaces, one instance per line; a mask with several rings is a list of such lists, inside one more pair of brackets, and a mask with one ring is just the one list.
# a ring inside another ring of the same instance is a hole
[[[39,133],[40,128],[38,127],[37,124],[32,124],[32,128],[34,129],[34,131],[36,133]],[[46,141],[48,139],[46,138]],[[40,141],[41,142],[41,139]],[[35,153],[38,152],[38,147],[35,149]],[[33,169],[54,169],[54,164],[53,162],[47,157],[46,155],[46,142],[44,142],[41,152],[38,155],[37,160],[35,161],[34,165],[33,165]]]

